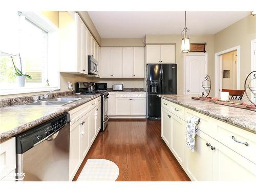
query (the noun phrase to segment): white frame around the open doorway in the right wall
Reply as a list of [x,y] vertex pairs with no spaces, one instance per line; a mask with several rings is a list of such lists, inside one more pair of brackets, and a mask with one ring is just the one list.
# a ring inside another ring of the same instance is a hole
[[[222,60],[221,60],[221,55],[225,53],[229,53],[232,51],[237,51],[237,89],[240,89],[240,46],[232,47],[223,51],[220,51],[218,53],[215,53],[214,56],[214,96],[215,97],[220,97],[220,90],[222,88]],[[218,86],[217,86],[218,85]]]

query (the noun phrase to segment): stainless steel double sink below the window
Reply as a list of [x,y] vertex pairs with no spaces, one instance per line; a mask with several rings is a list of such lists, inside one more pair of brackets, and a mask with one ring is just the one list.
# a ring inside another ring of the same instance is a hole
[[61,98],[54,98],[48,100],[41,100],[33,103],[28,103],[26,105],[33,105],[33,106],[61,106],[65,105],[74,101],[82,99],[81,97],[61,97]]

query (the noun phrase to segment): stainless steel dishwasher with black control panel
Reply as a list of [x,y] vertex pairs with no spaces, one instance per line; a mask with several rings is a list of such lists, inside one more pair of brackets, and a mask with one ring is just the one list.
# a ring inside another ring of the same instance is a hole
[[69,113],[16,136],[16,180],[69,181]]

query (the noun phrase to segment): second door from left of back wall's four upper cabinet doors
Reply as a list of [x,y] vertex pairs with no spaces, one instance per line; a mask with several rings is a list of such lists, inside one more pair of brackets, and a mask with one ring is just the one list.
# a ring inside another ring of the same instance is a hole
[[123,77],[123,48],[112,48],[112,77]]

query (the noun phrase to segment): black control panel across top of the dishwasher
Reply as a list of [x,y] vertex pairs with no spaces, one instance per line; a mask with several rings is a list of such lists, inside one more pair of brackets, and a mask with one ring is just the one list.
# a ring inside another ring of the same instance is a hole
[[63,126],[70,122],[69,113],[60,115],[48,122],[37,125],[36,127],[16,136],[17,154],[22,154],[30,148],[46,140],[52,134],[58,132]]

